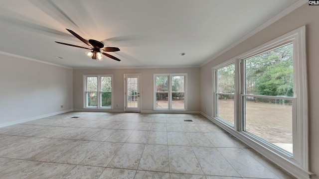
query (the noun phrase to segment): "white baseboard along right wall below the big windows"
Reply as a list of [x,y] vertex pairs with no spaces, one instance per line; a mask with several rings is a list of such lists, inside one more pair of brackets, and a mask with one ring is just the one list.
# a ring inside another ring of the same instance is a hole
[[237,139],[239,139],[240,141],[242,141],[243,143],[257,151],[258,153],[260,153],[261,155],[266,157],[268,160],[272,161],[273,163],[284,169],[286,172],[296,177],[297,179],[310,179],[311,176],[314,175],[313,173],[306,171],[305,169],[298,166],[298,164],[296,164],[296,162],[294,162],[293,160],[284,158],[283,156],[276,154],[274,151],[271,151],[266,147],[256,143],[256,141],[251,140],[245,134],[243,134],[243,132],[235,131],[229,128],[228,126],[224,125],[222,122],[214,119],[213,117],[208,116],[203,112],[200,113],[207,119],[211,120],[216,125],[221,127],[222,129],[226,130],[227,132],[235,136]]

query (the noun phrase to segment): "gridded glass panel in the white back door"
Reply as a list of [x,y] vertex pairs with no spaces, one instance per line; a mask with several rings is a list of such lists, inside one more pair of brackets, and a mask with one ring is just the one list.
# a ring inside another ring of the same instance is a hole
[[139,107],[138,105],[138,78],[127,78],[128,107]]

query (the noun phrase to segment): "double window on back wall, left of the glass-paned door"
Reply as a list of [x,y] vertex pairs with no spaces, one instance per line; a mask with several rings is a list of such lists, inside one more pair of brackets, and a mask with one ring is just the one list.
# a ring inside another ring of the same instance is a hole
[[112,107],[112,75],[84,76],[85,107]]

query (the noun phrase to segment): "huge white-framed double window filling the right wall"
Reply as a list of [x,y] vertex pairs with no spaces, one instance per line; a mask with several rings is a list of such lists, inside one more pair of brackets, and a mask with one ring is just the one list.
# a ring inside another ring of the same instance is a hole
[[301,27],[213,68],[214,120],[296,175],[308,170],[305,54]]

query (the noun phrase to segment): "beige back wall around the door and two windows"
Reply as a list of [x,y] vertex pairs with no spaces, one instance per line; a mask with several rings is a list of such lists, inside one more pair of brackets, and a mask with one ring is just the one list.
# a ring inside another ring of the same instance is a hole
[[187,73],[187,111],[198,112],[200,110],[199,68],[73,70],[74,109],[83,109],[84,106],[83,75],[113,74],[113,110],[124,111],[124,74],[141,74],[141,110],[142,112],[153,110],[153,74],[161,73]]

